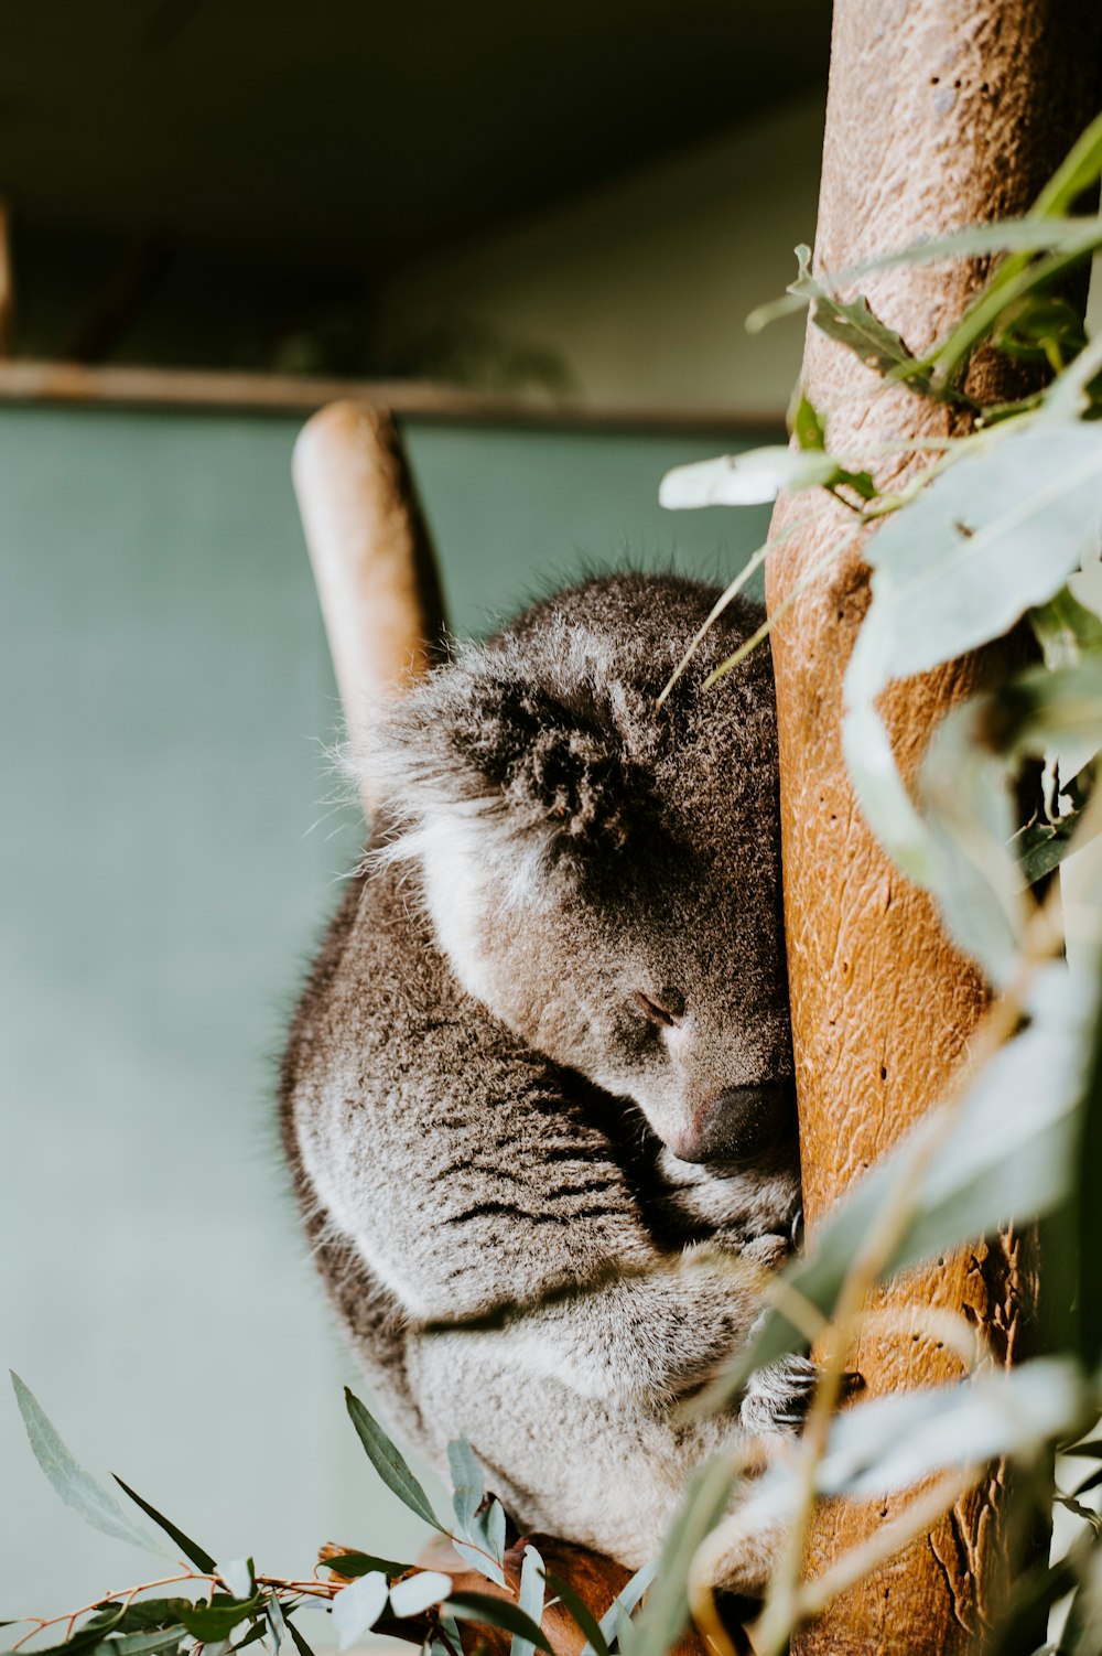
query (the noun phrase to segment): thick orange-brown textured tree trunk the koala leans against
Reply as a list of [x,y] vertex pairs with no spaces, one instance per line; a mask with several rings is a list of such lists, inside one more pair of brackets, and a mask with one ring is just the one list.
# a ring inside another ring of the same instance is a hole
[[[1082,0],[837,0],[816,268],[846,265],[975,220],[1023,212],[1095,113],[1102,10]],[[862,283],[874,311],[927,349],[983,280],[976,263],[913,267]],[[1003,394],[991,363],[968,389]],[[943,434],[950,416],[882,383],[814,326],[804,384],[829,412],[834,449]],[[880,467],[880,484],[913,462]],[[774,527],[806,513],[781,502]],[[844,522],[801,532],[771,558],[776,609]],[[976,972],[945,941],[927,896],[890,866],[849,788],[841,687],[867,606],[854,551],[799,598],[773,634],[781,717],[781,798],[789,972],[809,1227],[933,1105],[985,1004]],[[905,773],[930,730],[970,694],[981,662],[895,686],[884,710]],[[1036,1307],[1031,1239],[1004,1235],[913,1273],[884,1297],[894,1333],[865,1336],[854,1366],[885,1393],[960,1373],[922,1312],[963,1313],[996,1363],[1028,1346]],[[928,1537],[844,1595],[793,1649],[946,1653],[973,1648],[1001,1596],[1001,1471]],[[817,1575],[903,1500],[817,1515]]]

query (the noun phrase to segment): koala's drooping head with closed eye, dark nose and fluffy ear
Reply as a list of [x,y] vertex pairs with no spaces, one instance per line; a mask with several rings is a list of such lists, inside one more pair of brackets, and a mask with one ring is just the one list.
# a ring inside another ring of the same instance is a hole
[[794,1156],[768,647],[716,593],[612,576],[468,646],[384,717],[367,763],[463,987],[642,1110],[682,1161]]

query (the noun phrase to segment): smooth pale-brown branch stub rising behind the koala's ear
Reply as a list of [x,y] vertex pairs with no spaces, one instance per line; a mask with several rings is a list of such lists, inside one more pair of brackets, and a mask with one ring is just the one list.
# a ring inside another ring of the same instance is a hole
[[[354,747],[376,700],[424,672],[443,639],[435,558],[387,414],[333,402],[295,444],[295,492]],[[371,820],[369,778],[362,800]]]

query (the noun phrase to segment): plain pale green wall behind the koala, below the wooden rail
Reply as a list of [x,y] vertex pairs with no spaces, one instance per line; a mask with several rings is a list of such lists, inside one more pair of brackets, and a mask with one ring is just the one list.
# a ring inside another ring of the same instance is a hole
[[[424,1537],[344,1418],[273,1129],[359,835],[324,803],[298,424],[0,409],[0,1356],[96,1472],[278,1573]],[[657,505],[730,437],[409,442],[458,629],[625,556],[730,575],[764,527]],[[161,1573],[58,1504],[3,1394],[0,1489],[0,1616]]]

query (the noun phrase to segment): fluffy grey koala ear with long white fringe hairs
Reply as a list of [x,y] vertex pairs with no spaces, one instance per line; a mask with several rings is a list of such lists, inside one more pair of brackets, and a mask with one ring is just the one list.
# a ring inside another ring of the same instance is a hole
[[637,792],[609,697],[597,707],[582,689],[510,677],[493,657],[422,679],[384,719],[367,763],[414,840],[460,813],[543,841],[551,858],[622,846]]

